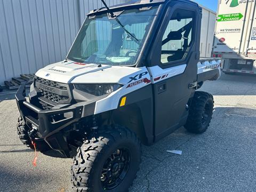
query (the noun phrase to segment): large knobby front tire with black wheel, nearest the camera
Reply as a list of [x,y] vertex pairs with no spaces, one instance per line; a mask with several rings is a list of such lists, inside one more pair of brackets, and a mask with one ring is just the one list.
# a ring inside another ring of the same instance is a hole
[[141,142],[135,133],[118,125],[106,128],[78,147],[71,166],[73,189],[128,191],[137,177],[140,163]]

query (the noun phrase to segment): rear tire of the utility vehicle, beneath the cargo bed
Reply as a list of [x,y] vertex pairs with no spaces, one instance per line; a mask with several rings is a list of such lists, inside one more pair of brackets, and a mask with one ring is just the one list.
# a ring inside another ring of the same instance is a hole
[[205,132],[212,119],[213,107],[213,96],[210,93],[196,91],[184,127],[191,133]]

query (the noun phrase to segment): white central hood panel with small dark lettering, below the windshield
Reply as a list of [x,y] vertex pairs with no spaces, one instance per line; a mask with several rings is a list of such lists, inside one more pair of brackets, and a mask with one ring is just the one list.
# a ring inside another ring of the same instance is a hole
[[74,61],[61,61],[38,70],[35,75],[37,77],[41,77],[50,81],[55,81],[59,83],[70,83],[74,78],[78,76],[93,73],[107,68],[111,68],[111,66],[85,64]]

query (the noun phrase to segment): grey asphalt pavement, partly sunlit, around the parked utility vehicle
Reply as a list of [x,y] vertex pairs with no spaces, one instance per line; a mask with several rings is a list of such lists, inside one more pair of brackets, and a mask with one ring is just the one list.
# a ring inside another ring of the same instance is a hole
[[[256,78],[222,75],[202,90],[214,95],[209,130],[183,127],[143,147],[141,169],[130,188],[138,191],[256,191]],[[72,159],[34,153],[18,139],[13,93],[0,94],[0,191],[71,191]],[[166,150],[182,150],[182,155]]]

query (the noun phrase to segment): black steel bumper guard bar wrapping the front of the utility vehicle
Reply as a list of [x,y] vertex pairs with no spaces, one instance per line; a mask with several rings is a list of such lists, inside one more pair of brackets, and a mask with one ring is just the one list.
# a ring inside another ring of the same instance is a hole
[[[37,128],[39,137],[42,138],[50,137],[52,134],[59,132],[64,127],[78,121],[83,113],[84,106],[42,110],[27,102],[25,97],[25,85],[21,85],[15,94],[20,114],[23,119],[25,119],[26,123],[29,122]],[[65,114],[68,114],[70,117],[60,119],[59,121],[53,120],[54,116],[65,116]]]

